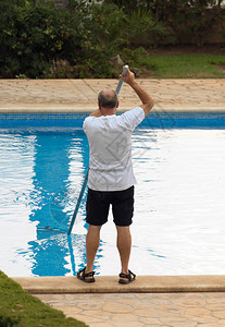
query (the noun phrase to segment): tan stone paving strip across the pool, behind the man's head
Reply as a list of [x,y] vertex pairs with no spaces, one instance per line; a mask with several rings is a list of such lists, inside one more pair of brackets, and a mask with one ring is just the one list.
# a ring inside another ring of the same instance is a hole
[[[225,78],[137,81],[152,95],[154,110],[225,109]],[[0,80],[0,112],[91,111],[99,90],[116,85],[117,80]],[[138,97],[124,83],[121,110],[136,105]]]

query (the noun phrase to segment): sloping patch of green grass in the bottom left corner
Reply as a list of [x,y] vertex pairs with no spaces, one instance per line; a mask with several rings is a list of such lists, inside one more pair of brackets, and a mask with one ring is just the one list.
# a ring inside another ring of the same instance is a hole
[[86,324],[66,318],[61,311],[42,303],[0,271],[1,327],[85,327]]

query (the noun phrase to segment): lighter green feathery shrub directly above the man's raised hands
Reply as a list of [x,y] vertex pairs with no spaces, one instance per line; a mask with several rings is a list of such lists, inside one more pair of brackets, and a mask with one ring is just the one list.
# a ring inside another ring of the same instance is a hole
[[[164,25],[155,23],[151,13],[147,10],[138,9],[134,12],[125,12],[125,10],[120,9],[112,2],[104,2],[101,5],[92,4],[90,16],[91,20],[86,25],[89,40],[87,43],[89,50],[86,53],[91,53],[91,47],[99,49],[97,57],[100,58],[102,56],[99,66],[101,72],[103,72],[102,76],[113,74],[112,66],[110,66],[110,71],[107,71],[107,65],[109,66],[110,60],[117,53],[124,58],[124,49],[130,49],[134,52],[132,55],[134,58],[138,52],[138,50],[134,50],[135,48],[162,44],[163,39],[165,40],[167,37]],[[92,53],[91,58],[95,59],[92,61],[92,65],[95,66],[95,62],[97,61],[95,53]],[[105,59],[107,61],[104,61]],[[105,69],[102,65],[103,62],[105,62]],[[99,71],[98,75],[101,72]]]

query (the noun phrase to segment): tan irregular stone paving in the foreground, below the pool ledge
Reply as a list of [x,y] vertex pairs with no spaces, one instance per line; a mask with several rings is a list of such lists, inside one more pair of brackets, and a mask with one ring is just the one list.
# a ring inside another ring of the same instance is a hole
[[225,292],[36,296],[90,327],[225,326]]

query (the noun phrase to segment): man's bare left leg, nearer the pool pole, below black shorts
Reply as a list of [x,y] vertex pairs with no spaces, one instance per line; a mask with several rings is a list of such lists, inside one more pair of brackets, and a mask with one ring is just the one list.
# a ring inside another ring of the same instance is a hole
[[100,243],[100,230],[101,226],[89,225],[88,233],[86,237],[86,274],[91,272],[93,270],[93,262]]

